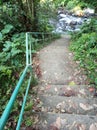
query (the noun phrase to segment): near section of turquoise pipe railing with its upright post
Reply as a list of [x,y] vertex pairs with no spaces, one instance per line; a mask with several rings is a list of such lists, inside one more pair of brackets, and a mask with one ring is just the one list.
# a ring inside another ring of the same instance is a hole
[[21,108],[21,112],[20,112],[20,115],[19,115],[19,120],[18,120],[18,123],[17,123],[17,126],[16,126],[16,130],[20,130],[20,124],[21,124],[21,121],[22,121],[22,116],[23,116],[23,112],[24,112],[24,107],[25,107],[25,104],[26,104],[26,99],[27,99],[27,95],[28,95],[28,90],[30,88],[30,83],[31,83],[31,77],[32,77],[32,54],[31,54],[31,44],[29,43],[28,41],[28,33],[26,33],[26,67],[22,73],[22,75],[20,76],[20,79],[15,87],[15,90],[13,91],[12,95],[11,95],[11,98],[0,118],[0,130],[3,130],[4,129],[4,126],[6,125],[6,122],[8,120],[8,117],[10,115],[10,112],[12,110],[12,107],[14,105],[14,102],[16,100],[16,97],[18,95],[18,92],[21,88],[21,85],[24,81],[24,78],[28,72],[28,70],[30,69],[30,76],[29,76],[29,80],[28,80],[28,85],[27,85],[27,89],[26,89],[26,92],[25,92],[25,96],[24,96],[24,99],[23,99],[23,103],[22,103],[22,108]]

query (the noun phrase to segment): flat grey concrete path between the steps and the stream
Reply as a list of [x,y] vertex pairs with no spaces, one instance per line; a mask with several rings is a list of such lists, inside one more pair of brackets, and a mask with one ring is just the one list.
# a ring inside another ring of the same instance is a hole
[[39,52],[41,83],[69,85],[86,84],[86,76],[73,61],[73,54],[69,51],[70,36],[62,35],[60,39]]

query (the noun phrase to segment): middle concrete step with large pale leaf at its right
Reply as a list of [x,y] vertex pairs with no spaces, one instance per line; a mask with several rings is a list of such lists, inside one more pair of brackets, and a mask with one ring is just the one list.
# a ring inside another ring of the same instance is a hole
[[97,98],[76,98],[40,95],[35,111],[97,115]]

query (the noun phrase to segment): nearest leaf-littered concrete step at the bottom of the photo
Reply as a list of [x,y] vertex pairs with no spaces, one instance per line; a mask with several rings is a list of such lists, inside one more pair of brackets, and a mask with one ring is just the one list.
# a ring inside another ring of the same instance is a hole
[[37,130],[97,130],[97,116],[35,113],[33,118]]

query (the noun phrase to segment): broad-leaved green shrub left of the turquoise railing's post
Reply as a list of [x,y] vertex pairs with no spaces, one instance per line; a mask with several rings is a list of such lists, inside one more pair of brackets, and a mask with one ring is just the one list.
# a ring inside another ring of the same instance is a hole
[[[4,101],[14,89],[25,58],[25,33],[13,32],[14,26],[11,24],[6,24],[0,32],[0,99]],[[6,95],[6,98],[3,95]],[[4,109],[2,100],[0,113]]]

